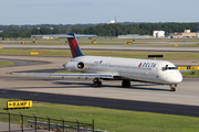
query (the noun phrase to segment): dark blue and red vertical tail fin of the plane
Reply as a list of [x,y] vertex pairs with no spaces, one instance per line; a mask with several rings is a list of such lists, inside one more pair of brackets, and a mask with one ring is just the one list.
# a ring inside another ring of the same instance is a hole
[[74,36],[74,37],[67,37],[73,58],[78,57],[78,56],[84,56],[84,54],[82,53],[82,51],[78,46],[78,42],[76,40],[75,33],[67,33],[67,35]]

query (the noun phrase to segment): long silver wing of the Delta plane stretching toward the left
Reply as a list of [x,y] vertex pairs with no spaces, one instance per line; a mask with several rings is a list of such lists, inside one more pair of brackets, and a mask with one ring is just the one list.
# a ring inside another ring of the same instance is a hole
[[112,74],[54,74],[54,73],[10,73],[12,75],[61,76],[61,77],[93,77],[114,78]]

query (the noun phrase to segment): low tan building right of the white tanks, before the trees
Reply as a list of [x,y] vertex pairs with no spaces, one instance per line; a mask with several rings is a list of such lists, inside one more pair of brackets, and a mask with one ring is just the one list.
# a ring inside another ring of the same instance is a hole
[[196,32],[190,32],[190,30],[185,30],[181,33],[169,33],[172,38],[195,38],[196,37]]

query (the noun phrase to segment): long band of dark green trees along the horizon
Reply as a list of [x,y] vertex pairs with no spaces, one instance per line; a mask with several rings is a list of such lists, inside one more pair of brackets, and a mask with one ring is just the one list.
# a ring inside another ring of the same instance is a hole
[[95,34],[98,36],[117,36],[126,34],[151,35],[153,31],[166,34],[190,30],[196,32],[199,23],[115,23],[115,24],[76,24],[76,25],[0,25],[0,37],[30,37],[35,34]]

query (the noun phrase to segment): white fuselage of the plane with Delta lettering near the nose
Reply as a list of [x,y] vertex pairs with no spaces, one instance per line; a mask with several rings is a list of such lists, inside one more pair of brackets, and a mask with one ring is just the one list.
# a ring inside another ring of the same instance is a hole
[[85,68],[82,73],[112,74],[121,79],[174,85],[182,81],[182,76],[176,66],[166,61],[78,56],[72,62],[82,62]]

